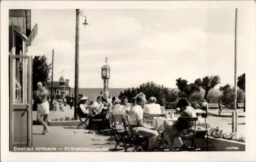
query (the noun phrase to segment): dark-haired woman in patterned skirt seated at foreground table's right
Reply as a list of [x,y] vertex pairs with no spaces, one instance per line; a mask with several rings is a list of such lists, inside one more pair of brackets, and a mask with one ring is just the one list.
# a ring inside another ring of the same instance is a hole
[[168,126],[164,131],[164,138],[168,143],[169,151],[173,151],[174,141],[177,145],[180,145],[181,147],[184,146],[179,134],[189,134],[193,132],[195,123],[182,120],[182,117],[197,117],[194,108],[189,106],[188,101],[184,98],[179,100],[176,107],[180,108],[180,118],[172,126]]

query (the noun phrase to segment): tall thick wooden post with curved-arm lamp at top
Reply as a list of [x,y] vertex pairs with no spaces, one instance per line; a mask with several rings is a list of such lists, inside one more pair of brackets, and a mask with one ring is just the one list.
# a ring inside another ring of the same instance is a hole
[[[78,80],[79,80],[79,16],[83,16],[80,9],[76,9],[76,40],[75,40],[75,105],[74,105],[74,119],[78,119],[76,105],[78,104]],[[83,22],[84,27],[89,25],[86,16]]]

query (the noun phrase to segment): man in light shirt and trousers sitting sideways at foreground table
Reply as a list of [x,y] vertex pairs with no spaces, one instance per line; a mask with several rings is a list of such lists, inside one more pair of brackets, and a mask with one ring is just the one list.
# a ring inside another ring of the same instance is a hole
[[[158,132],[154,130],[155,128],[146,125],[143,123],[143,109],[146,102],[145,97],[138,96],[136,98],[136,105],[131,109],[129,115],[130,115],[130,125],[131,125],[131,131],[135,135],[141,135],[148,137],[148,149],[152,149],[155,147],[158,147]],[[145,148],[146,149],[146,148]]]

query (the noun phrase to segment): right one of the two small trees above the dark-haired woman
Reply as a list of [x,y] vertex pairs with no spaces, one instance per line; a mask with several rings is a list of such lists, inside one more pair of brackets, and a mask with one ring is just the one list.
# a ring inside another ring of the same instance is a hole
[[198,78],[195,81],[195,84],[198,86],[201,86],[205,92],[204,92],[204,99],[207,99],[207,95],[210,91],[210,89],[214,88],[217,84],[220,84],[220,77],[219,76],[206,76],[202,80]]

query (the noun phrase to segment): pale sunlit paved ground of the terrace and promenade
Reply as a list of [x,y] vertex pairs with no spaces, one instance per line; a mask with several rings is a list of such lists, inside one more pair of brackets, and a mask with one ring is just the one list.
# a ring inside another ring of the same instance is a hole
[[[73,109],[65,107],[64,112],[51,111],[49,119],[73,117]],[[33,119],[36,118],[36,112],[33,112]],[[231,118],[208,117],[207,119],[212,127],[219,127],[225,131],[231,132]],[[90,147],[90,148],[109,148],[113,151],[115,142],[108,141],[110,134],[88,133],[86,129],[76,129],[76,127],[50,126],[50,132],[41,135],[42,126],[33,126],[33,147]],[[245,118],[238,118],[238,135],[245,136]],[[118,147],[117,151],[123,151]],[[63,150],[58,150],[63,151]],[[129,151],[129,150],[128,150]]]

